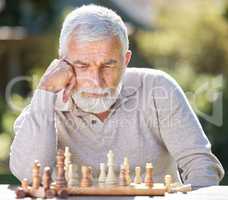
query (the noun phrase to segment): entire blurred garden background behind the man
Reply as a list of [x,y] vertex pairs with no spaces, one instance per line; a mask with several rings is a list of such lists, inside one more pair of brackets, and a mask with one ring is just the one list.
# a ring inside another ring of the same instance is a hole
[[[182,86],[227,171],[228,1],[0,0],[0,183],[18,183],[8,167],[13,123],[57,57],[64,17],[89,3],[126,22],[129,67],[164,70]],[[227,175],[222,184],[228,185]]]

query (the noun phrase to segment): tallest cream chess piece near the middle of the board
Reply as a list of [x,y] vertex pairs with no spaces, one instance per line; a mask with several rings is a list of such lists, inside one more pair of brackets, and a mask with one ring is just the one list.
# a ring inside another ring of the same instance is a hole
[[108,174],[105,179],[105,184],[106,185],[116,185],[117,177],[116,177],[115,170],[114,170],[114,154],[111,150],[108,152],[107,158],[108,158],[108,163],[107,163]]

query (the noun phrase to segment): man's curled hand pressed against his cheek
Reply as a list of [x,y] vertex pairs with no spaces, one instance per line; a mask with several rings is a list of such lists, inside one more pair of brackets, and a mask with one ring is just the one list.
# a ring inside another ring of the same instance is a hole
[[55,59],[42,76],[39,89],[57,93],[64,89],[63,101],[66,102],[76,86],[76,74],[70,65],[62,59]]

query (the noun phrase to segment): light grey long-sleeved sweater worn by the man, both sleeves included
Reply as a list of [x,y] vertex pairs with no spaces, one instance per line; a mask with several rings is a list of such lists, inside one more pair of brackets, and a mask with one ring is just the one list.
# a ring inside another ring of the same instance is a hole
[[155,182],[171,174],[174,181],[203,187],[219,184],[224,176],[183,91],[159,70],[128,68],[121,94],[104,122],[77,108],[72,99],[63,103],[62,92],[37,89],[14,131],[10,169],[20,180],[31,181],[36,159],[42,169],[54,168],[56,150],[65,146],[74,163],[92,166],[94,177],[108,150],[115,154],[117,173],[125,156],[131,172],[152,162]]

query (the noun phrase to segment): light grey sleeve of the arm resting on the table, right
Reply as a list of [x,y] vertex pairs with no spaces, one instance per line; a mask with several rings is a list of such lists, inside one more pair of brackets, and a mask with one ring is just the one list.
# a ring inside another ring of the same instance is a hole
[[157,77],[155,87],[160,134],[183,182],[193,188],[218,185],[224,176],[223,167],[211,152],[211,144],[184,92],[166,73]]

